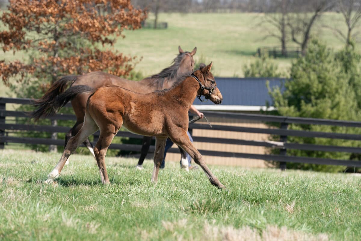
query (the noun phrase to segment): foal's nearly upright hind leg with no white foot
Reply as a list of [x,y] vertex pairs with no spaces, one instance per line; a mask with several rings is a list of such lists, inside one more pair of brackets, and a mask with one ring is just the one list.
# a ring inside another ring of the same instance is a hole
[[103,184],[110,184],[105,167],[105,154],[115,135],[116,133],[109,131],[108,129],[103,131],[100,130],[99,139],[94,147],[95,159],[99,167],[100,179]]

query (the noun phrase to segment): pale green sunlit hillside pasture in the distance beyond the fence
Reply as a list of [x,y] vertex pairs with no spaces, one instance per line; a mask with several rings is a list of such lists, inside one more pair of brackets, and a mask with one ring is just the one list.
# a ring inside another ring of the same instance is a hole
[[[123,32],[114,48],[132,56],[142,56],[135,70],[144,76],[160,72],[170,65],[178,53],[178,45],[191,51],[197,47],[195,59],[203,56],[208,63],[213,61],[213,73],[220,77],[243,77],[244,64],[255,60],[258,47],[277,46],[275,38],[264,39],[265,27],[260,13],[161,13],[159,21],[168,22],[168,29],[140,29]],[[152,21],[150,14],[148,21]],[[331,30],[322,28],[325,24],[345,29],[340,13],[325,13],[313,27],[313,35],[325,41],[329,47],[342,48],[343,42]],[[359,27],[358,30],[360,30]],[[0,29],[3,29],[0,27]],[[356,30],[357,31],[357,30]],[[289,46],[294,46],[289,41]],[[360,44],[358,44],[360,46]],[[26,54],[2,53],[0,59],[8,61],[27,59]],[[275,62],[286,72],[292,59],[279,58]],[[0,84],[0,96],[8,96],[8,89]]]

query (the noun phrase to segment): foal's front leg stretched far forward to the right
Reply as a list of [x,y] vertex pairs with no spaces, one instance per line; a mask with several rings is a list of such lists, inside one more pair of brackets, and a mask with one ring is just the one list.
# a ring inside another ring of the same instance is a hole
[[205,175],[208,177],[210,183],[218,188],[225,188],[225,186],[218,180],[216,176],[210,171],[210,169],[205,164],[202,155],[199,151],[193,146],[193,143],[190,141],[187,133],[183,129],[174,130],[171,133],[171,138],[178,146],[181,146],[191,158],[200,165],[200,167],[205,172]]

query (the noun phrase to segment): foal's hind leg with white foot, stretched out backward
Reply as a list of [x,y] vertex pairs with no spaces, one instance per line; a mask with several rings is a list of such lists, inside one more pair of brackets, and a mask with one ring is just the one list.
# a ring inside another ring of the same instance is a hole
[[55,178],[60,175],[61,170],[63,169],[66,160],[68,160],[69,156],[78,148],[78,146],[91,134],[96,132],[98,129],[97,125],[91,119],[90,116],[86,116],[86,120],[84,122],[81,130],[76,134],[73,138],[70,138],[68,143],[65,146],[64,152],[61,155],[59,162],[56,164],[55,168],[49,173],[48,179],[45,183],[53,182]]

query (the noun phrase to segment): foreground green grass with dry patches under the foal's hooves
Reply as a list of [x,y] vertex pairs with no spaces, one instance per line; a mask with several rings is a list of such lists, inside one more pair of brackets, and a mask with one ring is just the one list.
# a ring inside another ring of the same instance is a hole
[[1,240],[357,240],[361,177],[346,174],[107,158],[103,186],[91,156],[73,155],[55,185],[43,181],[59,153],[0,151]]

